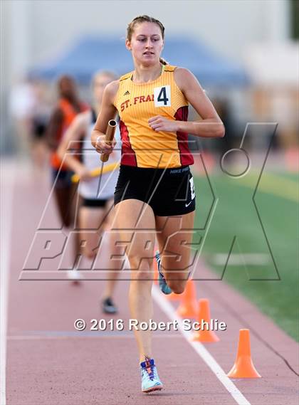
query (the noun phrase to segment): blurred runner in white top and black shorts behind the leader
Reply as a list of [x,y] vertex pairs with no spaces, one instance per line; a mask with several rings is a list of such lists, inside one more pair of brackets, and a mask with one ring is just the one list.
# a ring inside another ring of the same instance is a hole
[[[91,110],[82,112],[75,117],[72,124],[65,132],[61,145],[58,148],[58,156],[63,162],[78,174],[80,184],[78,192],[82,197],[82,204],[79,209],[79,228],[81,239],[86,241],[83,248],[83,254],[88,258],[94,258],[97,251],[98,241],[104,228],[110,228],[114,209],[113,193],[118,177],[118,169],[102,174],[99,177],[92,177],[90,172],[101,166],[100,158],[95,150],[90,150],[90,135],[95,125],[96,117],[100,111],[103,98],[103,91],[108,83],[115,80],[115,75],[110,72],[102,71],[95,73],[92,80],[94,104]],[[80,141],[84,135],[83,141],[83,162],[75,158],[73,154],[66,153],[72,146],[71,142]],[[120,160],[120,153],[113,152],[113,157],[109,163],[117,164]],[[104,165],[105,167],[105,165]],[[91,231],[91,232],[90,232]],[[108,251],[110,255],[115,252],[115,236],[110,234]],[[118,262],[117,262],[118,263]],[[108,273],[107,283],[102,299],[103,312],[115,313],[117,308],[112,300],[112,294],[115,288],[120,269],[114,268]],[[82,275],[78,270],[69,270],[68,277],[72,280],[78,280]]]

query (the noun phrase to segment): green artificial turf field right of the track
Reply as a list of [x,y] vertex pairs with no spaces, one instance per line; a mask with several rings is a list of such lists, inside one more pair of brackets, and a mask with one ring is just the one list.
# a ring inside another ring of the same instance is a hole
[[[298,184],[295,177],[283,175],[276,185],[277,175],[271,174],[272,191],[269,191],[267,176],[261,178],[255,197],[261,221],[253,204],[257,178],[252,179],[252,184],[248,185],[246,177],[232,179],[226,174],[215,175],[209,179],[194,177],[195,228],[199,228],[198,234],[202,237],[201,255],[209,267],[223,275],[226,282],[234,285],[256,304],[261,312],[271,317],[281,329],[299,341],[298,202],[290,192],[283,196],[281,179],[288,178],[288,182],[293,182],[289,183],[288,187],[294,186],[294,190]],[[234,240],[231,251],[233,255],[263,253],[268,255],[269,263],[228,263],[224,271],[225,263],[216,264],[215,255],[229,255]]]

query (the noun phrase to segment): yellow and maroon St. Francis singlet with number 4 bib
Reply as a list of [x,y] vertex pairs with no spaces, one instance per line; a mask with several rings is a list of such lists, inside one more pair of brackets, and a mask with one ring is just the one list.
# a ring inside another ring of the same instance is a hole
[[134,83],[132,73],[120,78],[114,105],[120,115],[121,163],[147,168],[182,167],[194,163],[186,132],[156,132],[148,124],[155,115],[187,121],[188,101],[174,81],[175,66],[148,83]]

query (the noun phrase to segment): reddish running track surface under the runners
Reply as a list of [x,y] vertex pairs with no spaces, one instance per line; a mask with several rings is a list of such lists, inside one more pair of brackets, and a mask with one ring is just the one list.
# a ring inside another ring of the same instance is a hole
[[[73,322],[78,318],[111,318],[103,316],[99,307],[103,281],[72,285],[62,280],[19,280],[48,199],[49,184],[47,177],[33,178],[28,170],[16,168],[16,174],[9,261],[6,404],[236,404],[199,354],[175,331],[154,332],[154,359],[164,390],[142,394],[133,332],[127,327],[123,331],[90,331],[89,325],[84,332],[74,329]],[[53,207],[50,211],[54,220]],[[55,266],[56,261],[48,261],[46,270]],[[198,272],[201,278],[211,277],[202,263],[196,275]],[[212,317],[228,325],[225,332],[218,332],[220,342],[206,345],[224,372],[234,364],[238,330],[251,330],[253,362],[263,378],[234,380],[247,403],[298,404],[298,377],[294,372],[298,372],[298,344],[224,282],[200,281],[196,289],[197,298],[209,298]],[[128,282],[121,280],[115,294],[120,312],[114,318],[121,318],[125,325],[130,318],[127,292]],[[154,303],[154,319],[167,322],[162,302],[158,298]]]

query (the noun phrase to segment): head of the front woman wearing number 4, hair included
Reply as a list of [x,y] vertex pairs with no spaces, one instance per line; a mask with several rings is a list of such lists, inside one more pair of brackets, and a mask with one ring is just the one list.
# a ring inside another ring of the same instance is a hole
[[126,47],[137,64],[146,66],[158,62],[167,64],[160,57],[164,46],[164,26],[150,16],[138,16],[127,26]]

